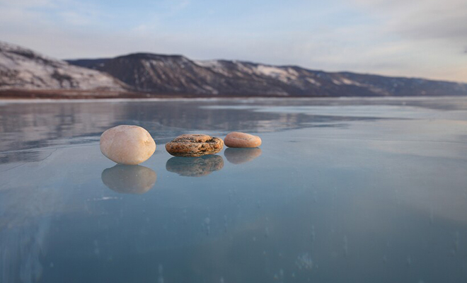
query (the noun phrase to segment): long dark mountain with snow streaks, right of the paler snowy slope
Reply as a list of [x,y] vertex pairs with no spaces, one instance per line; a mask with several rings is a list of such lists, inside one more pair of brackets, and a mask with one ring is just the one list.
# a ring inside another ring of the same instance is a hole
[[233,96],[454,96],[466,83],[313,71],[251,62],[195,61],[179,55],[136,53],[69,60],[105,71],[138,91]]

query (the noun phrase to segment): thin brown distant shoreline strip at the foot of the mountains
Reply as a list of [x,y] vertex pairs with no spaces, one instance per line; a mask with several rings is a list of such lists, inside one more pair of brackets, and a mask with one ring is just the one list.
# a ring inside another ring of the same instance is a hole
[[1,90],[0,100],[112,100],[112,99],[151,99],[151,98],[436,98],[467,97],[446,96],[272,96],[272,95],[202,95],[184,93],[143,93],[125,91],[81,91],[81,90]]

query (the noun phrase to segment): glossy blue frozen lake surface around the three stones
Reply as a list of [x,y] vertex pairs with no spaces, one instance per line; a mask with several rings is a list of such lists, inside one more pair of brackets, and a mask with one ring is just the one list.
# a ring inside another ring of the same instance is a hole
[[0,282],[467,282],[467,98],[0,100]]

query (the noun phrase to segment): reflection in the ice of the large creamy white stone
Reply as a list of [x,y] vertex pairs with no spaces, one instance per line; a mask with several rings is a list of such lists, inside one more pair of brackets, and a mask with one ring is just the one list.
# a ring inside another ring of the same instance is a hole
[[144,166],[117,164],[102,171],[101,178],[110,190],[141,195],[154,187],[157,174]]

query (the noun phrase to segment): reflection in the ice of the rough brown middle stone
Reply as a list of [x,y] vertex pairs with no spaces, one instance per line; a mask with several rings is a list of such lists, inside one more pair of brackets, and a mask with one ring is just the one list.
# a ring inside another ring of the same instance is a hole
[[219,155],[201,157],[172,157],[166,163],[167,171],[187,177],[201,177],[224,167],[224,158]]

